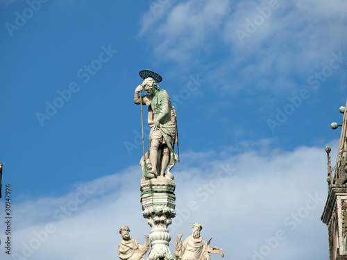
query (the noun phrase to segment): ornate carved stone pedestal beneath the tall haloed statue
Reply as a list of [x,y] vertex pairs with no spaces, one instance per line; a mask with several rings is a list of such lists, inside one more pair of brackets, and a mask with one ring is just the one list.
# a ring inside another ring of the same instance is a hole
[[167,227],[176,216],[175,187],[174,180],[164,177],[141,180],[142,215],[149,219],[147,223],[152,227],[148,260],[174,260],[169,250],[171,236]]

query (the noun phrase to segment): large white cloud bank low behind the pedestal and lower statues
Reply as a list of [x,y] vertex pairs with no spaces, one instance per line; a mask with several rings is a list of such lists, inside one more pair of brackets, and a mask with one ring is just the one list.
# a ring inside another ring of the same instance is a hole
[[[327,196],[324,148],[282,152],[269,148],[269,141],[262,144],[253,151],[250,148],[259,144],[245,144],[246,151],[237,155],[228,155],[234,148],[181,155],[185,163],[174,168],[177,215],[170,227],[171,252],[178,232],[184,232],[185,239],[192,224],[201,223],[202,236],[212,237],[211,245],[223,248],[226,259],[252,259],[253,250],[266,252],[266,239],[278,232],[285,239],[266,259],[328,258],[328,229],[320,220]],[[337,141],[333,144],[336,147]],[[144,243],[150,227],[142,218],[140,175],[139,166],[134,166],[76,184],[61,198],[12,205],[12,253],[22,254],[25,245],[35,248],[38,232],[44,242],[26,259],[115,259],[118,229],[124,224],[130,227],[130,236]],[[312,196],[318,200],[307,210]],[[189,210],[189,201],[197,209]],[[301,222],[291,214],[301,216]],[[52,234],[43,232],[47,224]]]

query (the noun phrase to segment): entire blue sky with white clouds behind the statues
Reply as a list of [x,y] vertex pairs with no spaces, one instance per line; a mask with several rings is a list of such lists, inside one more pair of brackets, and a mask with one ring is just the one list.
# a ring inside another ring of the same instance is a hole
[[[328,259],[325,201],[301,209],[312,196],[325,200],[325,146],[336,155],[340,130],[329,125],[341,123],[347,97],[346,5],[1,0],[0,161],[12,186],[12,253],[48,224],[55,231],[23,258],[114,259],[125,223],[144,242],[133,92],[139,71],[151,69],[178,114],[177,209],[189,198],[199,205],[174,219],[173,241],[201,223],[226,259],[252,259],[282,230],[264,259]],[[227,166],[235,171],[221,180]],[[62,214],[81,189],[85,200]],[[309,214],[294,228],[298,211]],[[15,259],[3,243],[0,254]]]

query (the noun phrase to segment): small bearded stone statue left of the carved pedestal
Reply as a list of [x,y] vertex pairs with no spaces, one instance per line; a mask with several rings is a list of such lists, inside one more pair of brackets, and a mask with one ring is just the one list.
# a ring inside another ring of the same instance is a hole
[[119,234],[122,237],[118,245],[119,258],[121,260],[145,260],[142,256],[149,251],[149,236],[144,235],[146,242],[144,245],[140,245],[136,239],[130,239],[129,232],[130,229],[127,225],[119,229]]

